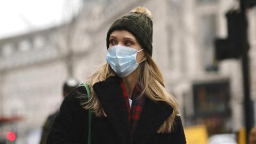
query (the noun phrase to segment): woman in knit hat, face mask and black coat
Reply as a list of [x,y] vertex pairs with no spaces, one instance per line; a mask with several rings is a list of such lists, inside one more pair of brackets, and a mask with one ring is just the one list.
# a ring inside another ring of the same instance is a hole
[[47,143],[87,143],[88,109],[92,143],[186,143],[177,102],[151,58],[152,35],[145,7],[114,21],[107,33],[107,63],[86,81],[91,99],[86,100],[84,86],[71,92]]

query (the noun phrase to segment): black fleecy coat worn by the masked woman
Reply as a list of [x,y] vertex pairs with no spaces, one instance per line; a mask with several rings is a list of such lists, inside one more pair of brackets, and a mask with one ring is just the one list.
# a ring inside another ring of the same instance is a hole
[[[150,144],[186,143],[183,126],[179,116],[175,117],[174,131],[158,134],[157,129],[172,114],[173,108],[163,101],[146,98],[140,119],[131,135],[128,112],[119,86],[119,77],[109,77],[106,81],[93,85],[107,117],[92,115],[92,143]],[[88,111],[80,105],[78,93],[86,94],[83,86],[71,92],[60,107],[60,113],[47,138],[47,144],[86,144],[88,131]],[[146,95],[144,95],[146,97]]]

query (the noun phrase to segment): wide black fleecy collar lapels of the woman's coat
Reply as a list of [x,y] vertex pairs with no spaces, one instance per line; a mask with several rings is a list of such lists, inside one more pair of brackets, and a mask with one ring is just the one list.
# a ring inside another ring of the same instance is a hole
[[[109,77],[106,81],[95,83],[93,89],[117,134],[119,143],[126,144],[131,142],[132,135],[120,80],[121,78],[117,76]],[[157,131],[172,111],[173,108],[166,102],[155,102],[147,98],[135,128],[132,143],[146,143],[150,135]]]

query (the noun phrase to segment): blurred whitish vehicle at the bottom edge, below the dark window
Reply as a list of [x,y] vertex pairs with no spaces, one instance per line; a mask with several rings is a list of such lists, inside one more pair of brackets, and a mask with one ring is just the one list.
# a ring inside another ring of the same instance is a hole
[[236,134],[214,134],[208,139],[208,144],[237,144]]

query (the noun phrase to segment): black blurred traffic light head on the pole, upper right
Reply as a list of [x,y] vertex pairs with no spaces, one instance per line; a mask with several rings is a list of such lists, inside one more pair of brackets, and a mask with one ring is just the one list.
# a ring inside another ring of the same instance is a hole
[[243,53],[242,33],[244,25],[240,11],[231,10],[226,13],[228,37],[225,39],[215,39],[215,55],[217,60],[239,58]]

